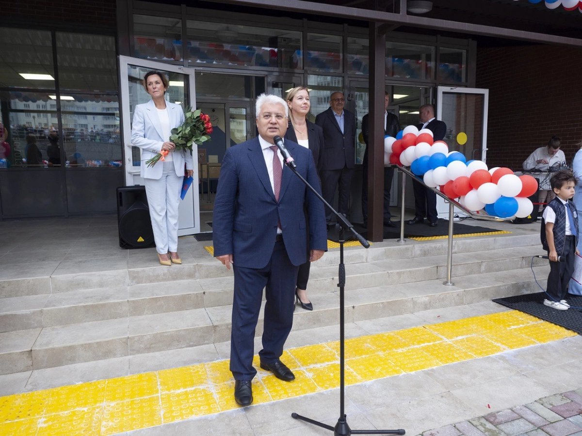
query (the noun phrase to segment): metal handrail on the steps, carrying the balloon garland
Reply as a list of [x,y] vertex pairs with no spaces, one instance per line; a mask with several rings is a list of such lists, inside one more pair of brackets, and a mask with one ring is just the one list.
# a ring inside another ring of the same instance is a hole
[[423,179],[420,179],[416,174],[414,174],[412,171],[410,171],[410,169],[404,168],[404,166],[400,166],[400,165],[389,165],[389,166],[392,166],[393,168],[396,168],[402,172],[402,207],[400,208],[400,239],[398,239],[398,242],[400,242],[400,243],[406,242],[406,240],[404,239],[404,193],[406,192],[405,187],[406,187],[406,175],[407,174],[411,178],[413,178],[413,180],[416,180],[421,185],[426,186],[432,192],[434,192],[438,196],[441,196],[442,198],[445,199],[445,201],[447,201],[449,203],[449,238],[448,238],[448,247],[447,247],[447,253],[446,253],[446,282],[443,282],[442,283],[443,285],[446,285],[446,286],[455,285],[455,283],[453,283],[451,281],[451,274],[452,274],[452,270],[453,270],[453,218],[455,216],[454,215],[455,207],[458,207],[459,209],[463,210],[471,218],[481,219],[483,221],[498,221],[498,222],[499,221],[511,221],[512,219],[515,218],[515,217],[501,218],[501,217],[494,217],[493,215],[481,215],[481,214],[477,214],[475,212],[471,212],[469,209],[464,207],[458,201],[447,197],[445,194],[443,194],[441,191],[437,190],[436,188],[428,186],[426,183],[424,183]]

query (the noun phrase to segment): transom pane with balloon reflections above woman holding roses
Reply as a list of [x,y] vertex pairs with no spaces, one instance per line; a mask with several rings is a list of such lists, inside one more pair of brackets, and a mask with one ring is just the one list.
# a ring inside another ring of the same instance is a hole
[[182,20],[133,15],[134,56],[159,61],[182,61]]

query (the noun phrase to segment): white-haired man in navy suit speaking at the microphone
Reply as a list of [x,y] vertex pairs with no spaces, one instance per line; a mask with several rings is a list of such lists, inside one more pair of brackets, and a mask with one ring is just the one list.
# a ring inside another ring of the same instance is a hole
[[[212,217],[214,256],[229,270],[232,264],[235,275],[230,371],[241,406],[253,402],[253,345],[262,290],[267,303],[258,353],[261,368],[292,381],[295,376],[279,358],[293,324],[297,269],[307,261],[307,219],[310,260],[327,250],[321,201],[283,165],[274,146],[274,137],[285,136],[287,130],[287,105],[282,98],[262,94],[256,106],[259,136],[226,150]],[[311,151],[290,140],[285,147],[297,171],[319,190]]]

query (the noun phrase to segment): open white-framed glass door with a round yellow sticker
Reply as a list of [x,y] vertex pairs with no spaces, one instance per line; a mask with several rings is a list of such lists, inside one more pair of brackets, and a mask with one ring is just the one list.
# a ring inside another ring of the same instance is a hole
[[485,162],[489,90],[439,86],[437,102],[437,118],[446,123],[449,150]]

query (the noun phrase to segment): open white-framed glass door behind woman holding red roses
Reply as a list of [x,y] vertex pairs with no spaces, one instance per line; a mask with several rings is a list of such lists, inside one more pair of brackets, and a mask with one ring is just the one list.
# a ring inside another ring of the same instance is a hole
[[[119,74],[121,88],[121,116],[123,125],[124,163],[126,185],[143,185],[140,176],[141,150],[132,145],[132,119],[136,105],[150,101],[141,80],[146,72],[158,70],[168,76],[169,87],[166,100],[175,104],[196,108],[194,93],[194,70],[161,62],[119,56]],[[197,148],[194,144],[194,180],[198,180]],[[184,200],[180,201],[178,235],[193,235],[200,232],[200,201],[196,192],[196,182],[188,190]]]

